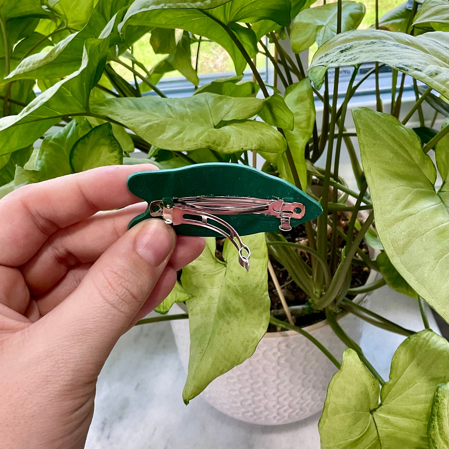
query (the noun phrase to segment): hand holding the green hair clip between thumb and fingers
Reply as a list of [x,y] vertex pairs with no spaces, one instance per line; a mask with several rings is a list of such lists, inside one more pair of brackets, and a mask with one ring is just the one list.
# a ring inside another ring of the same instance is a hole
[[202,252],[162,220],[127,231],[146,204],[126,179],[149,169],[96,168],[0,201],[1,447],[84,446],[114,344]]

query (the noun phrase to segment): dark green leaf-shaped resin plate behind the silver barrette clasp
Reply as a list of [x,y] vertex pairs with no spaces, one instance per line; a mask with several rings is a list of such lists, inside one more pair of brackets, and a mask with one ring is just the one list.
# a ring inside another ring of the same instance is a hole
[[[292,219],[291,226],[313,220],[322,212],[318,202],[289,182],[234,163],[195,164],[170,170],[136,172],[128,177],[128,189],[148,204],[157,200],[171,202],[173,198],[192,196],[281,198],[286,202],[301,202],[306,209],[305,215],[300,220]],[[213,215],[225,220],[240,235],[278,231],[281,224],[278,217],[264,214]],[[151,218],[149,207],[143,214],[133,218],[128,228],[147,218]],[[194,225],[177,225],[174,228],[178,235],[219,236],[214,231]]]

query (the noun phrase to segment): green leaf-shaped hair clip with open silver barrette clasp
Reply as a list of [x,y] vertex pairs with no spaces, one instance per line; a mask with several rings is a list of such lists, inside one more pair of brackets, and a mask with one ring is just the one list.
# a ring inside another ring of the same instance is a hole
[[318,202],[287,181],[235,163],[136,172],[128,177],[128,189],[148,202],[129,228],[161,218],[178,235],[229,238],[247,270],[251,252],[240,236],[289,231],[322,212]]

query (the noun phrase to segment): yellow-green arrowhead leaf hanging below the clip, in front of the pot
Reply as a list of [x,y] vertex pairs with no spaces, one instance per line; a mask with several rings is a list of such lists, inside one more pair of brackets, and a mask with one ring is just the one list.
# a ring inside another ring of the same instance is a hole
[[226,240],[225,263],[215,256],[215,238],[206,239],[202,255],[182,270],[181,283],[193,297],[189,311],[189,372],[183,398],[187,404],[212,380],[250,357],[264,336],[270,316],[268,252],[264,234],[243,237],[251,248],[251,270],[238,263]]

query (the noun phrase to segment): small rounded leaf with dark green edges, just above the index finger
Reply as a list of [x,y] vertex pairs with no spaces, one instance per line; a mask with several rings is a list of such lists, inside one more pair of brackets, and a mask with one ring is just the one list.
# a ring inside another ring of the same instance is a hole
[[96,126],[76,141],[69,160],[75,173],[105,165],[122,165],[123,150],[114,137],[111,124]]

